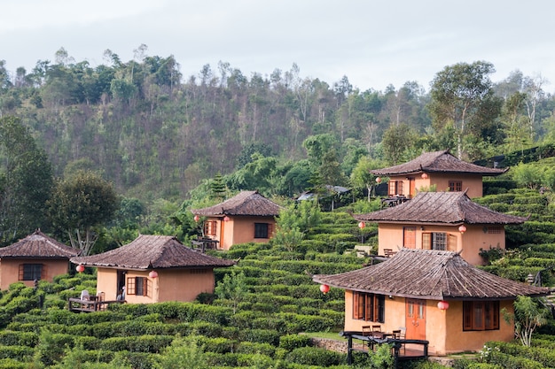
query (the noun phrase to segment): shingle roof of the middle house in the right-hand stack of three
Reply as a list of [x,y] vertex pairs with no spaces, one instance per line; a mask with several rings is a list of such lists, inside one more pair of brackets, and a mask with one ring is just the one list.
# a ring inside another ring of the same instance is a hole
[[410,201],[380,211],[354,216],[376,222],[441,224],[521,224],[527,219],[474,203],[465,192],[418,192]]

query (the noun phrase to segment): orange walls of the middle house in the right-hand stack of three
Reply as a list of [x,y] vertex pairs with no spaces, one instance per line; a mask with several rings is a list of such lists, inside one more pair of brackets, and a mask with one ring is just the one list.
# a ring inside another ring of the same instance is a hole
[[[503,226],[496,226],[500,233],[490,233],[489,226],[466,225],[465,234],[458,231],[458,226],[440,225],[415,225],[415,224],[394,224],[379,223],[378,244],[379,255],[384,255],[384,249],[399,250],[403,247],[403,227],[416,227],[416,248],[422,249],[422,233],[444,232],[457,237],[457,250],[461,251],[461,256],[472,265],[483,265],[484,260],[480,256],[480,249],[489,250],[491,248],[505,247],[505,234]],[[424,227],[424,229],[421,229]]]

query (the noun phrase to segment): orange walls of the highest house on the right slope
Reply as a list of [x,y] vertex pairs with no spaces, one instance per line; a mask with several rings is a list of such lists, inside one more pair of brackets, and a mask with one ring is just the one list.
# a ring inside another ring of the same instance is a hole
[[[414,188],[416,192],[421,188],[429,188],[435,185],[435,190],[449,191],[449,181],[462,181],[462,190],[466,191],[466,195],[470,198],[481,197],[483,195],[483,183],[481,175],[476,174],[457,174],[457,173],[427,173],[427,178],[423,179],[420,174],[415,175],[399,175],[389,177],[390,181],[403,181],[403,194],[409,195],[409,177],[414,178]],[[416,193],[410,194],[416,196]]]

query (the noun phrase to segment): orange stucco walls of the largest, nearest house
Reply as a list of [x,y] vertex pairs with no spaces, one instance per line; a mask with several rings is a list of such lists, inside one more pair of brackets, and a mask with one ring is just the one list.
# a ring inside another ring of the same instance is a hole
[[[489,331],[463,331],[463,302],[449,302],[449,309],[442,311],[437,307],[438,301],[426,301],[426,340],[432,355],[449,355],[464,351],[481,350],[485,342],[510,342],[514,337],[512,324],[499,318],[499,329]],[[501,301],[500,310],[512,312],[513,301]],[[379,323],[382,330],[391,332],[399,327],[406,327],[406,299],[404,297],[386,297],[385,322]],[[345,291],[345,331],[362,331],[363,326],[371,322],[353,319],[353,293]],[[407,337],[410,338],[410,337]]]

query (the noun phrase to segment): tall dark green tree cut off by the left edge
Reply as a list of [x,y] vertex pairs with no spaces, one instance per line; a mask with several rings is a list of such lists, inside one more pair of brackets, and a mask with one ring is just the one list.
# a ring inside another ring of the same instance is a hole
[[11,242],[46,226],[51,164],[15,117],[0,119],[0,240]]

